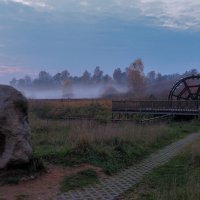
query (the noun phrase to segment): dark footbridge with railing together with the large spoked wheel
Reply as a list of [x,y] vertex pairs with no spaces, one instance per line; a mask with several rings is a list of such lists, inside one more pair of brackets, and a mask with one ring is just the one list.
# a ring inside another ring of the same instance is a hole
[[112,101],[112,119],[128,118],[132,114],[185,115],[200,119],[200,74],[176,82],[166,101]]

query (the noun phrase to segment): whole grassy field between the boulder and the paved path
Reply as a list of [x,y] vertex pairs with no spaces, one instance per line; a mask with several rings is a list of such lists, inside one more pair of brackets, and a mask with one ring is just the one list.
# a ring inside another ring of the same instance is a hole
[[[60,117],[61,112],[69,114],[67,109],[79,114],[86,109],[94,115],[102,109],[106,114],[101,117],[107,117],[110,103],[109,100],[31,102],[34,157],[66,166],[90,163],[112,174],[199,129],[195,122],[141,126],[132,122],[70,121]],[[55,114],[58,108],[59,114]]]

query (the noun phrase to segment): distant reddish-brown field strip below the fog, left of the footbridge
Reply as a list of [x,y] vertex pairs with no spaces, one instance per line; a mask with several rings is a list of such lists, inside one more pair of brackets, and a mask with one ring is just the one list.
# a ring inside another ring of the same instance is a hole
[[111,118],[112,101],[107,99],[31,100],[29,111],[41,119]]

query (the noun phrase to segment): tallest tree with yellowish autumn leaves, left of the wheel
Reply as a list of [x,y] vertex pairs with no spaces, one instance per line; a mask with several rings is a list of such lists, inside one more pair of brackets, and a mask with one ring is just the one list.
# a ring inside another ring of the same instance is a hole
[[136,96],[141,96],[145,88],[144,65],[141,59],[135,60],[127,68],[128,84]]

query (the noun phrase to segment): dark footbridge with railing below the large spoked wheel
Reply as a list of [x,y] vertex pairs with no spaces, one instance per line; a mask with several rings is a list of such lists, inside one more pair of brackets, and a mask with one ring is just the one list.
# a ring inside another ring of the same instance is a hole
[[200,116],[200,100],[112,101],[112,117],[130,114]]

